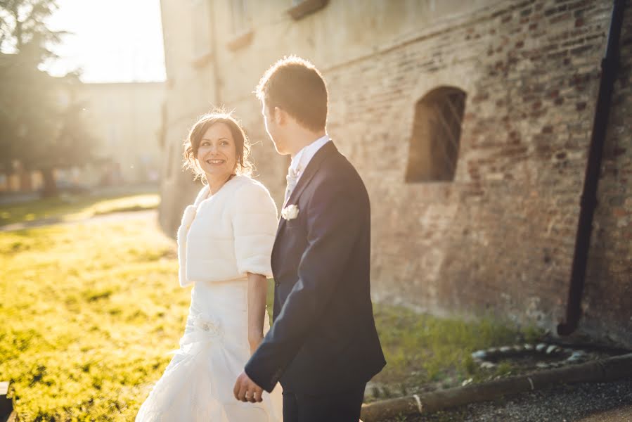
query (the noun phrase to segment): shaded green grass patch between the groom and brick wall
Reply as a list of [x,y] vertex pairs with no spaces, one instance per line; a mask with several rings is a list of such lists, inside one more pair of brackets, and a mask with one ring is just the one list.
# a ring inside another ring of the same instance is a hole
[[373,383],[382,388],[370,388],[366,402],[505,375],[514,370],[511,365],[480,369],[472,360],[472,352],[524,340],[523,333],[491,318],[440,319],[403,307],[379,304],[373,306],[373,311],[387,366],[373,378]]

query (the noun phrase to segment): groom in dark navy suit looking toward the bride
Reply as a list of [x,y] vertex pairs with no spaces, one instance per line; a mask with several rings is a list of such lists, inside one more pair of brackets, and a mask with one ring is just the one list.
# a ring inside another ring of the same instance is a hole
[[354,167],[325,132],[328,94],[307,60],[284,58],[257,87],[266,131],[292,156],[272,250],[269,333],[236,381],[241,401],[283,386],[283,421],[354,421],[386,362],[370,300],[370,207]]

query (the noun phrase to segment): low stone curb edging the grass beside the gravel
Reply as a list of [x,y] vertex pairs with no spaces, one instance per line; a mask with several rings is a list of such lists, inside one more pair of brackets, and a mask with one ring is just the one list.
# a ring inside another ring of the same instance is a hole
[[399,415],[430,414],[463,404],[486,402],[503,395],[540,390],[560,383],[608,382],[624,378],[632,378],[632,353],[487,383],[363,404],[361,418],[364,422],[378,422]]

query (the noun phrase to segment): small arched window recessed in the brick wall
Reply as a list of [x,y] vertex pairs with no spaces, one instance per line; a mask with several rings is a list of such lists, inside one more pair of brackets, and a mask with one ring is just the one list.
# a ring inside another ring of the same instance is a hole
[[454,180],[465,97],[458,88],[440,87],[417,101],[406,183]]

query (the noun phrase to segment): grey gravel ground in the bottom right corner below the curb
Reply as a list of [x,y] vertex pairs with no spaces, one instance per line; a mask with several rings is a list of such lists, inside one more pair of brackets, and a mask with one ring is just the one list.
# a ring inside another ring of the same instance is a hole
[[[619,409],[619,411],[611,411]],[[603,417],[600,417],[603,414]],[[632,422],[632,380],[557,385],[494,402],[383,422]]]

